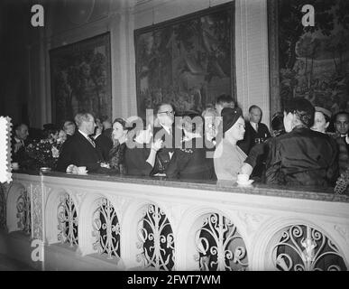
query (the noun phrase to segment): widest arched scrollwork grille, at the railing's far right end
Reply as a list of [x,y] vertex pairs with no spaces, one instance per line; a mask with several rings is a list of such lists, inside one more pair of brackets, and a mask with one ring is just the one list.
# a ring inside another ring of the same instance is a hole
[[322,232],[306,225],[283,229],[271,252],[273,265],[282,271],[347,270],[335,244]]

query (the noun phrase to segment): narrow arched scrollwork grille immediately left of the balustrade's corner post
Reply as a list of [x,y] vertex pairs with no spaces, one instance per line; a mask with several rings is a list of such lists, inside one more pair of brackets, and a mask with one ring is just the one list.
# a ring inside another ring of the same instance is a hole
[[17,208],[17,228],[25,234],[30,235],[32,231],[31,200],[29,193],[23,189],[16,200]]

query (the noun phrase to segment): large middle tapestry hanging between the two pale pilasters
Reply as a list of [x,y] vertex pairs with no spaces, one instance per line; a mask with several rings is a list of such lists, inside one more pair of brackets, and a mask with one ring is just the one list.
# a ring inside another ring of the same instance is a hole
[[134,32],[138,115],[161,102],[202,111],[234,98],[234,5],[220,5]]

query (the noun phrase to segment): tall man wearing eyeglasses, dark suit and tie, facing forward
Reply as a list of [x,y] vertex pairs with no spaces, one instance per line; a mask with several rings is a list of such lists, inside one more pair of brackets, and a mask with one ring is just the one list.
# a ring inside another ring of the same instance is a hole
[[176,129],[175,132],[174,116],[174,109],[168,103],[161,103],[155,108],[155,117],[159,122],[159,126],[154,127],[154,141],[161,138],[163,141],[163,148],[161,148],[156,155],[152,174],[163,175],[166,173],[176,144],[175,135],[177,135],[180,142],[181,132],[178,132],[178,129]]

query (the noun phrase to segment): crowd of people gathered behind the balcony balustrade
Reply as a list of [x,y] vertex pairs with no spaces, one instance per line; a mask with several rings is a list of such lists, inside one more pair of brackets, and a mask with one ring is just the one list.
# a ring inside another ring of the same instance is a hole
[[26,169],[38,163],[35,144],[50,144],[50,167],[60,172],[84,166],[107,174],[327,187],[348,170],[348,131],[348,112],[332,116],[305,98],[285,103],[270,131],[260,107],[249,107],[245,120],[234,99],[221,95],[201,113],[161,103],[147,120],[118,117],[112,123],[78,113],[61,127],[45,125],[35,141],[19,124],[12,152],[13,162]]

